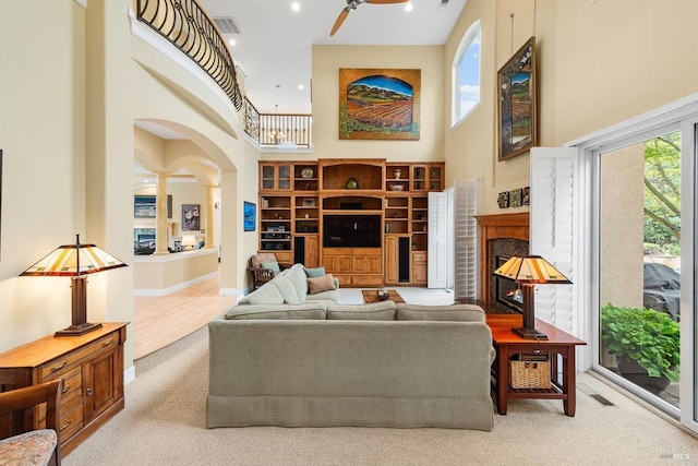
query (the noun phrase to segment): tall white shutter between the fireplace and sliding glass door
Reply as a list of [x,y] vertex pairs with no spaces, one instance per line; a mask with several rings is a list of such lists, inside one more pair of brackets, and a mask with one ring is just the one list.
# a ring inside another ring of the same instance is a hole
[[[577,309],[577,271],[580,225],[579,157],[575,147],[534,147],[531,150],[530,252],[542,255],[571,285],[535,287],[535,316],[580,336],[581,310]],[[577,255],[577,258],[576,258]]]

